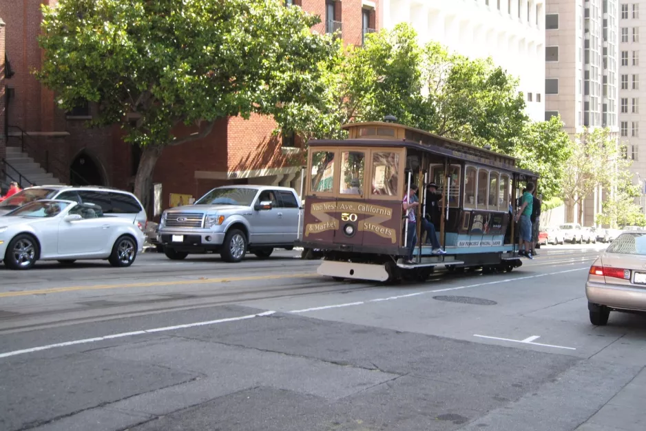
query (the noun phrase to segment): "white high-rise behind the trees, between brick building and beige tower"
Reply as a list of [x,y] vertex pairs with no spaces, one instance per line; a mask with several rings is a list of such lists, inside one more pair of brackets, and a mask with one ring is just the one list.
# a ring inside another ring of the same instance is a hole
[[422,43],[470,58],[492,57],[520,80],[527,114],[545,119],[544,0],[380,0],[380,27],[410,23]]

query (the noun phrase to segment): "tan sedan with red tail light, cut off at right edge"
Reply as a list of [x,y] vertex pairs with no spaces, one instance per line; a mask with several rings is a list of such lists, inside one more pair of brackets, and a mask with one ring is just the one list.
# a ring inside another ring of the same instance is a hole
[[593,325],[610,311],[646,311],[646,232],[623,232],[594,261],[585,283]]

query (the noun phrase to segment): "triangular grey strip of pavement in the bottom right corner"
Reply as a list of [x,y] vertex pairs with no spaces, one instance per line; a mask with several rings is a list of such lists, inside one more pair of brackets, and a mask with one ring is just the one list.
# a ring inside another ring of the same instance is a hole
[[575,431],[646,430],[646,368]]

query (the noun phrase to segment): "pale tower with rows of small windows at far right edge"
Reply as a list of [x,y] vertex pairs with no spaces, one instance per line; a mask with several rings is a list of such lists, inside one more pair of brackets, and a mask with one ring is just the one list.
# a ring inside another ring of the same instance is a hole
[[[640,8],[646,8],[646,1],[622,2],[619,5],[619,130],[623,155],[632,160],[631,170],[635,174],[635,181],[640,182],[643,190],[646,180],[646,126],[640,118],[639,104],[646,101],[646,82],[640,84],[643,81],[640,77],[644,76],[646,70],[646,59],[641,59],[640,64],[639,54],[640,33],[645,33],[646,29],[642,30],[645,21],[640,19]],[[646,13],[646,10],[642,13]]]

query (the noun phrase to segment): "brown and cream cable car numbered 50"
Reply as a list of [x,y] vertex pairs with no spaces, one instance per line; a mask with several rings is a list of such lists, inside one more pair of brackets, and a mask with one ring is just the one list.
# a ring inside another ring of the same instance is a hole
[[[297,245],[304,255],[322,257],[319,274],[425,280],[435,268],[492,272],[522,265],[512,208],[519,188],[535,184],[537,174],[518,168],[513,157],[392,121],[342,128],[347,139],[309,142]],[[441,201],[430,199],[430,183]],[[413,185],[415,224],[407,223],[403,206]],[[439,211],[426,220],[443,252],[421,241],[426,238],[419,221],[431,201]],[[417,230],[418,239],[410,260],[408,228]]]

